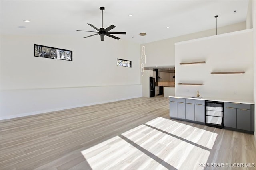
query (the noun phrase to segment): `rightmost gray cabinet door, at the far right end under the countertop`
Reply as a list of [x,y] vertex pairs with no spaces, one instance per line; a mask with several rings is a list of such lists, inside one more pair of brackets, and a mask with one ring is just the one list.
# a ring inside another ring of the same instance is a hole
[[247,109],[236,110],[236,128],[250,131],[251,130],[251,111]]

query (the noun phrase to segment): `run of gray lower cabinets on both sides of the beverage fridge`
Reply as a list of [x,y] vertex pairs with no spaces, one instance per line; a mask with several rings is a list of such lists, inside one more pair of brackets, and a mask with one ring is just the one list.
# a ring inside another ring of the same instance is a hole
[[[204,100],[170,97],[169,101],[171,118],[205,123]],[[216,112],[207,111],[212,114]],[[247,133],[254,132],[254,104],[224,102],[223,114],[224,127]]]

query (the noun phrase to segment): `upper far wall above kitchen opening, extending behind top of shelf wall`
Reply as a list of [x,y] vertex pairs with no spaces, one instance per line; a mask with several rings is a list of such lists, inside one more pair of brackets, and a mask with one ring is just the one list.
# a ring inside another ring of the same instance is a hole
[[[236,23],[225,27],[219,27],[217,30],[218,35],[229,33],[233,31],[240,31],[246,29],[246,22]],[[170,39],[155,41],[152,43],[142,44],[146,47],[147,63],[145,67],[154,66],[174,66],[175,65],[175,46],[174,43],[180,41],[187,41],[202,37],[216,35],[216,29],[209,29],[188,35],[182,35]],[[141,46],[142,46],[141,45]]]

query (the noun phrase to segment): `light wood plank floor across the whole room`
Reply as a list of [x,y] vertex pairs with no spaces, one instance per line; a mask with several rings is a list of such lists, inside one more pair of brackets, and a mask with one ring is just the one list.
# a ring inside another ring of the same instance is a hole
[[256,169],[254,135],[170,119],[162,96],[4,120],[0,142],[1,170]]

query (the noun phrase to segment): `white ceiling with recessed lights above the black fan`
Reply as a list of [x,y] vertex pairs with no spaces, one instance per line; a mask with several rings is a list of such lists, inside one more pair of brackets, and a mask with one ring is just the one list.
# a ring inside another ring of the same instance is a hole
[[[104,6],[103,27],[115,25],[111,31],[126,31],[117,35],[138,43],[148,43],[189,33],[246,21],[248,1],[220,0],[115,0],[115,1],[13,1],[1,0],[1,34],[12,35],[71,35],[85,37],[94,33],[92,25],[101,27],[101,11]],[[234,13],[234,10],[237,10]],[[129,14],[133,16],[128,17]],[[25,23],[23,20],[30,20]],[[18,28],[18,27],[25,28]],[[170,28],[166,28],[169,26]],[[145,32],[146,36],[139,36]],[[133,38],[132,38],[133,37]],[[96,35],[85,39],[98,38]],[[105,41],[110,37],[106,37]],[[118,41],[118,40],[116,40]]]

